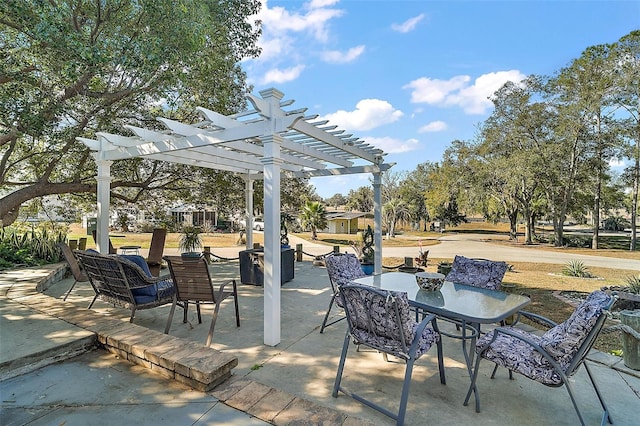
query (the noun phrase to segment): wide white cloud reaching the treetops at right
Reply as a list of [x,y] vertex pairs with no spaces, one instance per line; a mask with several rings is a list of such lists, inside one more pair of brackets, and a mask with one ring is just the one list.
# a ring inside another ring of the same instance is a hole
[[471,77],[458,75],[449,80],[421,77],[403,86],[412,89],[411,102],[437,106],[458,106],[467,114],[484,114],[493,107],[489,97],[507,81],[520,82],[526,76],[518,70],[483,74],[469,85]]

